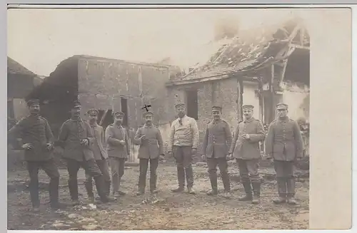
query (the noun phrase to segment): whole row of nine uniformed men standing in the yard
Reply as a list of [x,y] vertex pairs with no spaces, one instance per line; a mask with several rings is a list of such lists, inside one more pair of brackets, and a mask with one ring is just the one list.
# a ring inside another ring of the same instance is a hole
[[[39,211],[39,177],[41,168],[50,177],[49,196],[51,208],[63,208],[59,202],[59,170],[54,160],[54,148],[61,147],[69,174],[69,192],[72,204],[81,204],[79,200],[77,175],[83,167],[86,173],[85,187],[91,202],[95,202],[93,179],[100,202],[113,202],[126,195],[120,189],[124,165],[129,157],[129,135],[122,125],[124,113],[113,114],[114,123],[106,130],[97,124],[96,109],[88,110],[89,120],[81,118],[81,103],[74,101],[71,106],[71,118],[66,120],[59,130],[58,140],[54,139],[48,121],[41,117],[39,100],[27,102],[29,116],[19,120],[8,135],[22,139],[24,158],[29,170],[29,190],[32,208]],[[261,160],[259,143],[265,139],[266,155],[274,162],[278,183],[278,198],[275,203],[294,200],[295,182],[293,164],[302,157],[301,133],[295,121],[287,117],[288,105],[277,105],[278,118],[269,126],[266,135],[263,125],[253,118],[253,106],[243,105],[244,119],[238,123],[234,138],[225,120],[221,119],[222,109],[213,106],[213,119],[207,124],[203,138],[202,152],[207,161],[208,174],[212,189],[207,195],[218,195],[217,166],[221,172],[224,192],[223,197],[231,197],[231,185],[228,175],[228,160],[236,159],[241,183],[246,195],[238,200],[258,203],[261,190],[261,177],[258,162]],[[175,105],[178,118],[171,124],[168,142],[169,155],[173,155],[177,165],[178,187],[172,192],[183,192],[185,181],[188,194],[193,190],[193,156],[198,149],[198,126],[196,120],[186,115],[186,105]],[[139,145],[139,189],[136,195],[144,195],[146,173],[150,164],[150,192],[156,194],[156,170],[159,160],[164,158],[163,140],[159,128],[153,125],[154,114],[144,113],[145,124],[134,136],[134,144]],[[109,170],[109,165],[111,169]],[[110,192],[112,187],[112,192]]]

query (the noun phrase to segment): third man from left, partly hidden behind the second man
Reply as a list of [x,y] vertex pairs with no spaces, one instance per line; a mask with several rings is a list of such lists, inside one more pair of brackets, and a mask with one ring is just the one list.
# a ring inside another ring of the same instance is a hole
[[[109,172],[109,164],[108,164],[108,154],[106,149],[104,149],[105,145],[105,136],[104,129],[101,125],[98,125],[96,122],[98,120],[98,110],[90,109],[87,114],[89,115],[89,125],[91,125],[92,134],[94,135],[94,142],[91,145],[91,150],[94,153],[94,159],[96,160],[96,164],[101,170],[101,174],[104,177],[104,183],[106,187],[106,195],[110,195],[111,189],[111,176]],[[94,202],[94,194],[93,194],[93,177],[86,172],[86,180],[84,182],[86,186],[86,191],[91,202]]]

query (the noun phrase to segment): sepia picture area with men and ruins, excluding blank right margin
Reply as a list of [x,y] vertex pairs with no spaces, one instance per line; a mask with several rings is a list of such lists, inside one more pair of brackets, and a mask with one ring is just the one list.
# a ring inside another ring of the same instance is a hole
[[10,7],[7,228],[308,229],[308,10]]

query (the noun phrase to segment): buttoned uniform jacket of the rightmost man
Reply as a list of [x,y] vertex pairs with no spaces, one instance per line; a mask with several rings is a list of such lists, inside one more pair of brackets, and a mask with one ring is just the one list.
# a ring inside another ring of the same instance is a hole
[[274,160],[293,161],[303,156],[303,140],[298,124],[286,118],[273,120],[266,135],[266,155]]

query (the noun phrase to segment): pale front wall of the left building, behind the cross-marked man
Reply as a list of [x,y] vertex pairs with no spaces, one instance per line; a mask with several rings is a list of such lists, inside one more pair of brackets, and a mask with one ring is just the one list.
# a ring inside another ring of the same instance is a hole
[[154,123],[169,121],[164,108],[168,68],[125,61],[80,59],[79,96],[83,113],[89,108],[121,110],[121,98],[128,105],[128,125],[137,129],[144,123],[144,104],[151,104]]

